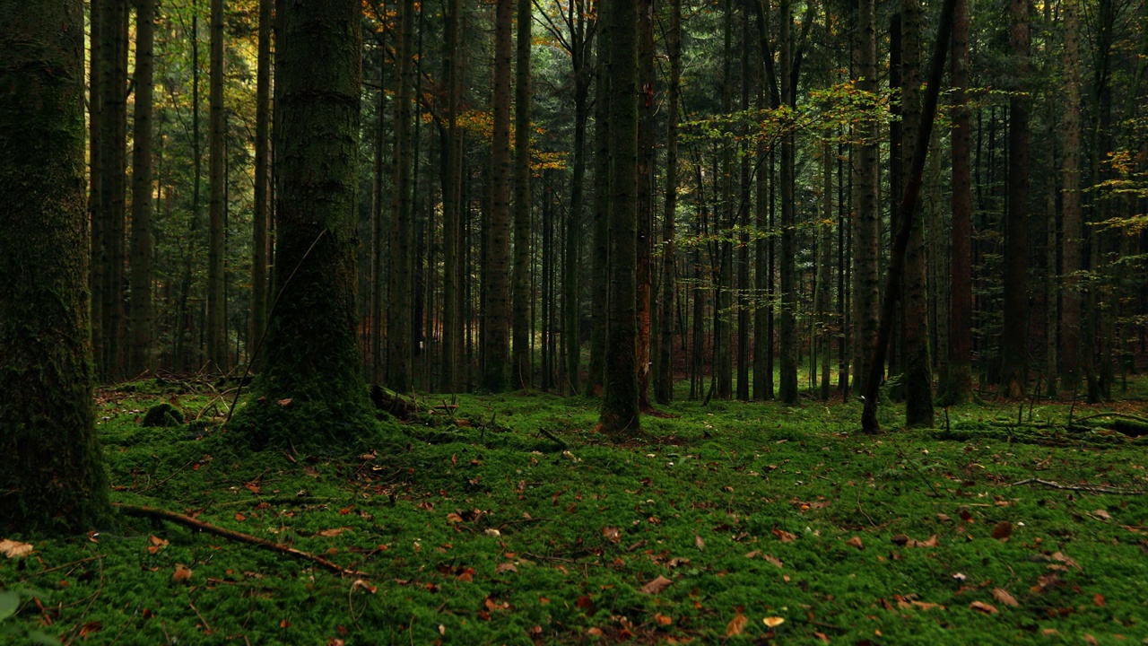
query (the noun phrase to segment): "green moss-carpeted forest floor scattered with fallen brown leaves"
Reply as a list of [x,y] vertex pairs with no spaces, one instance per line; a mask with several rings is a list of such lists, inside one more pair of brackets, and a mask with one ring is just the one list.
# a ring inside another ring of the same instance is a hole
[[[623,446],[594,400],[435,398],[347,455],[253,453],[209,390],[125,384],[98,416],[127,507],[0,557],[0,640],[1148,643],[1148,429],[1088,418],[1146,415],[1132,386],[932,430],[885,405],[878,436],[859,403],[683,401]],[[192,422],[142,426],[158,402]]]

